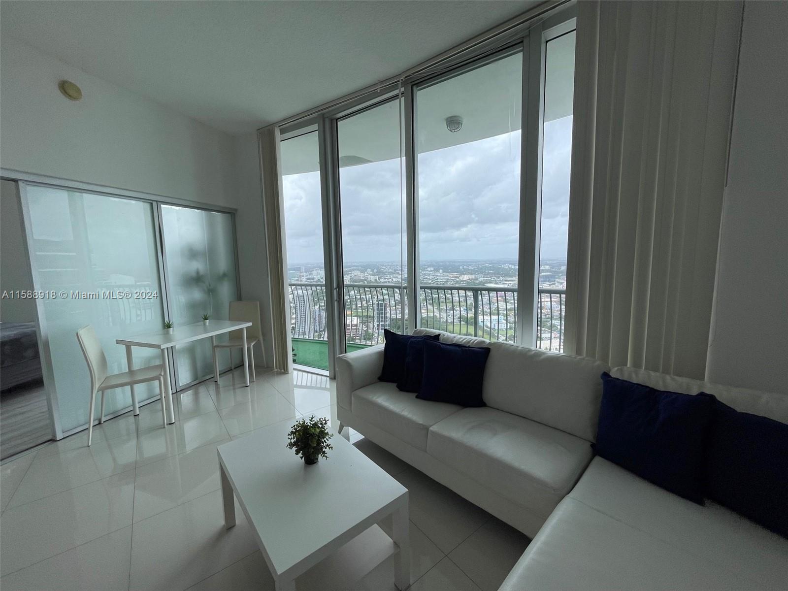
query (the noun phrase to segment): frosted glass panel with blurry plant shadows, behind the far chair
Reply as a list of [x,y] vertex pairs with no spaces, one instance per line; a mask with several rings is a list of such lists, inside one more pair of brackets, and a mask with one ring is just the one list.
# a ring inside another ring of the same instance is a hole
[[[226,320],[230,302],[238,299],[232,215],[162,205],[162,232],[169,277],[169,318],[176,326],[201,322],[203,314]],[[236,352],[237,365],[241,357],[240,351]],[[210,339],[177,347],[178,387],[213,375],[212,359]],[[228,352],[219,351],[219,369],[229,366]]]

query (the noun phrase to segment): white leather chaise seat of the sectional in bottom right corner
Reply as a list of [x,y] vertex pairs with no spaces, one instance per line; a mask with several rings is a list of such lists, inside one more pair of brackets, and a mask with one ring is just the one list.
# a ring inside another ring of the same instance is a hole
[[500,589],[786,588],[784,538],[597,457]]

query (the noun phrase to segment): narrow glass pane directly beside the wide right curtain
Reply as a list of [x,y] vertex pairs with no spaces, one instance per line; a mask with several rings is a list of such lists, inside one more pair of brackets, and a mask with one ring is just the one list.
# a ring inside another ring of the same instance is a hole
[[563,351],[572,155],[574,31],[548,41],[542,148],[537,347]]

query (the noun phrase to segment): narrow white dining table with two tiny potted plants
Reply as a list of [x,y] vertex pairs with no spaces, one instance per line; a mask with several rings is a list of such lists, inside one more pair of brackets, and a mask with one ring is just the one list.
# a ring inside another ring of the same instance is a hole
[[[126,348],[126,363],[128,370],[134,369],[134,359],[132,357],[132,347],[144,347],[148,349],[159,349],[162,351],[162,366],[164,366],[164,388],[166,396],[167,407],[167,424],[172,425],[175,422],[175,411],[173,411],[173,388],[169,383],[169,360],[167,358],[167,349],[175,347],[179,344],[191,343],[194,340],[210,338],[211,346],[216,344],[216,337],[220,334],[229,333],[233,330],[241,331],[241,340],[243,342],[243,379],[246,381],[247,387],[249,386],[249,350],[247,348],[247,335],[246,329],[251,326],[251,322],[243,322],[240,320],[210,320],[207,324],[203,322],[195,322],[185,326],[176,326],[173,332],[169,333],[166,329],[158,330],[155,333],[144,333],[128,338],[116,339],[117,344],[125,345]],[[219,379],[219,368],[216,361],[216,352],[212,351],[214,356],[214,378]],[[132,400],[136,401],[134,396],[134,386],[132,388]],[[136,403],[134,404],[134,414],[139,414],[139,408]]]

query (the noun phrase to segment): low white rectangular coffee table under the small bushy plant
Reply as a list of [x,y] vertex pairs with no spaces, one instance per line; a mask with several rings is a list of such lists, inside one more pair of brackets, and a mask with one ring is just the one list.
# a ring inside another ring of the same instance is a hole
[[329,459],[307,466],[285,447],[291,422],[220,445],[225,527],[236,524],[233,493],[255,532],[277,591],[388,515],[396,552],[394,584],[411,582],[407,489],[342,437]]

